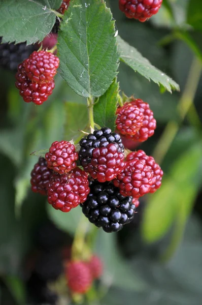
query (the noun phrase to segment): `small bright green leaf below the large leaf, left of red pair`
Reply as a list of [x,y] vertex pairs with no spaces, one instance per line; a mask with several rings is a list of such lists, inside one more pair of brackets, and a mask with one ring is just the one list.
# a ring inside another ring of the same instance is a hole
[[101,127],[109,127],[112,131],[115,129],[116,108],[118,103],[119,84],[117,79],[113,81],[106,93],[95,100],[94,121]]

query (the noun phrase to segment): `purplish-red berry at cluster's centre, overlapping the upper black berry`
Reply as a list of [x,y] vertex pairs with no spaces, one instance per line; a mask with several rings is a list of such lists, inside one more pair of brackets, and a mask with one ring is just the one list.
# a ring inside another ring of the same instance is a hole
[[111,143],[92,149],[90,163],[83,162],[82,165],[84,170],[99,182],[111,181],[123,170],[124,155],[121,152],[118,153],[117,145]]

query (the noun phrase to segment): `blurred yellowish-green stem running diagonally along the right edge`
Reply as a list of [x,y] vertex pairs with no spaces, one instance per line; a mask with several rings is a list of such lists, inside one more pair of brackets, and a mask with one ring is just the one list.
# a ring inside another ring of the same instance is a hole
[[175,121],[170,121],[165,127],[165,130],[153,152],[153,156],[157,163],[161,163],[164,159],[167,150],[169,150],[178,130],[180,129],[182,121],[187,115],[191,105],[193,105],[201,71],[201,62],[198,58],[194,57],[187,77],[185,89],[178,105],[180,122],[177,123]]

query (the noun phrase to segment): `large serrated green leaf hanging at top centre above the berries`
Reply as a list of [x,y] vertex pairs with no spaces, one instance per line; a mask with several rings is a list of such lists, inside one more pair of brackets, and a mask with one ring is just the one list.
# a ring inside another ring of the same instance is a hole
[[83,97],[103,95],[117,75],[112,14],[100,0],[75,0],[58,33],[60,74]]

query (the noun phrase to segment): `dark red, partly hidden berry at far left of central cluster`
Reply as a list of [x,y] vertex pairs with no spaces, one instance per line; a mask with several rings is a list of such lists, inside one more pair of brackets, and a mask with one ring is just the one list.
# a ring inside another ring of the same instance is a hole
[[47,194],[47,183],[50,180],[52,170],[47,167],[45,158],[39,158],[31,171],[31,190],[42,195]]

